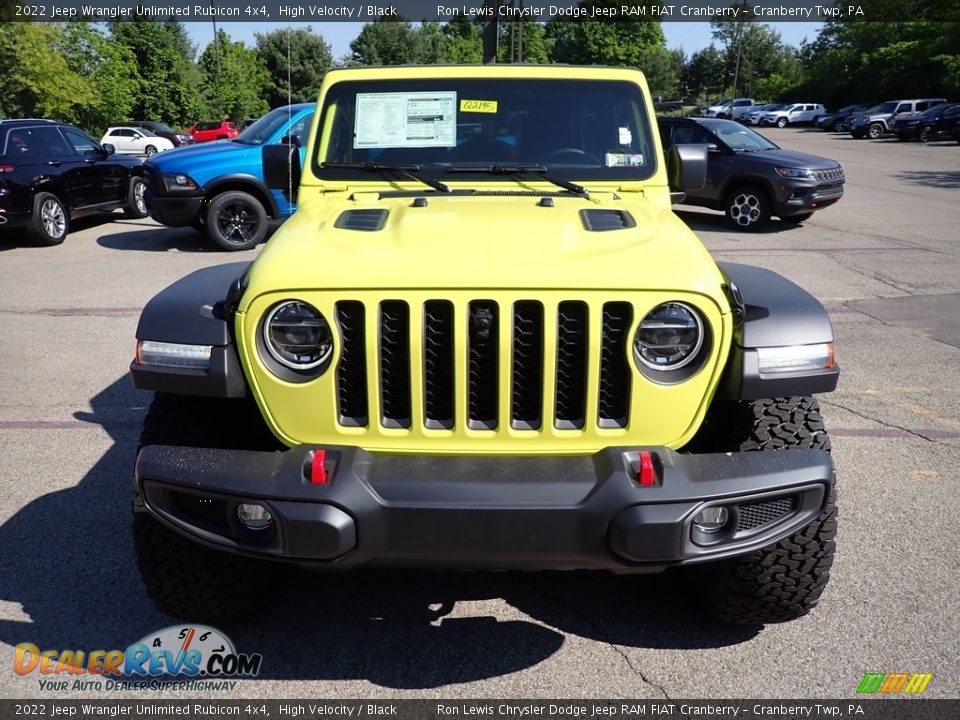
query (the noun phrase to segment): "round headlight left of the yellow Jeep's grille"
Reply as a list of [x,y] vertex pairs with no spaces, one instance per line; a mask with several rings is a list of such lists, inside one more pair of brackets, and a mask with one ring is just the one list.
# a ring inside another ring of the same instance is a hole
[[270,356],[293,370],[312,370],[333,352],[333,335],[326,318],[299,300],[276,305],[263,323],[263,341]]

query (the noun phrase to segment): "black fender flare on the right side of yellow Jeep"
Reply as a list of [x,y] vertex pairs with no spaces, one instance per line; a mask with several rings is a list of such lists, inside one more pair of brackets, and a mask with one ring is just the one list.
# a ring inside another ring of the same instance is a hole
[[762,375],[757,349],[833,343],[827,309],[813,295],[765,268],[719,262],[735,327],[718,397],[728,400],[814,395],[837,387],[840,368]]

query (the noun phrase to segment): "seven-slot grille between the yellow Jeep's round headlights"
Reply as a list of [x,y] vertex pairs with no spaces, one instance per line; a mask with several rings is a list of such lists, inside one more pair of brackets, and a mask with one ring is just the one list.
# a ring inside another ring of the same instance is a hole
[[[413,315],[422,324],[411,323]],[[384,428],[410,428],[417,417],[425,428],[453,429],[459,397],[467,427],[477,430],[500,429],[501,412],[509,414],[510,426],[517,430],[541,430],[548,423],[560,430],[581,430],[588,423],[626,427],[631,377],[627,334],[633,308],[627,302],[604,303],[599,362],[588,358],[589,317],[588,304],[579,300],[549,309],[535,300],[456,305],[428,300],[422,306],[400,300],[366,306],[340,301],[339,422],[367,427],[370,398],[376,397]],[[503,332],[501,323],[507,324]],[[367,335],[372,332],[377,368],[368,372]],[[555,356],[545,348],[546,338],[554,336]],[[459,356],[458,341],[464,344]],[[509,348],[501,349],[501,342]],[[458,367],[458,357],[465,358],[465,367]],[[510,367],[500,367],[501,359],[508,359]],[[588,407],[589,373],[599,373],[593,407]],[[419,396],[413,383],[417,377]],[[368,387],[374,379],[378,386]],[[547,387],[551,392],[545,392]]]

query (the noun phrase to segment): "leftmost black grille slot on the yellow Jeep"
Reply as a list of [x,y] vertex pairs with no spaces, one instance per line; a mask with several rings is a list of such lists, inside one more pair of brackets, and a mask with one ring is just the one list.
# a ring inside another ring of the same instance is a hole
[[356,300],[338,302],[336,317],[341,344],[340,363],[337,365],[337,411],[340,414],[340,424],[366,427],[369,410],[363,303]]

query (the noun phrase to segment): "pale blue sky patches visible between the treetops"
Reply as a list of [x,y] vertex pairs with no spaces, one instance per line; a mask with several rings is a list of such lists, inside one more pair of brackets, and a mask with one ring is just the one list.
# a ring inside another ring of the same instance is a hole
[[[822,23],[783,22],[767,23],[780,33],[785,43],[799,45],[804,39],[813,40]],[[213,40],[213,25],[207,22],[184,23],[187,32],[193,38],[200,52]],[[303,23],[303,22],[222,22],[218,29],[224,30],[232,40],[242,40],[253,46],[256,33],[267,33],[284,27],[311,27],[313,31],[322,35],[333,51],[333,57],[339,59],[350,52],[350,41],[360,32],[364,23],[331,22],[331,23]],[[667,36],[667,47],[681,48],[687,55],[707,47],[711,42],[710,23],[707,22],[664,22],[663,32]]]

